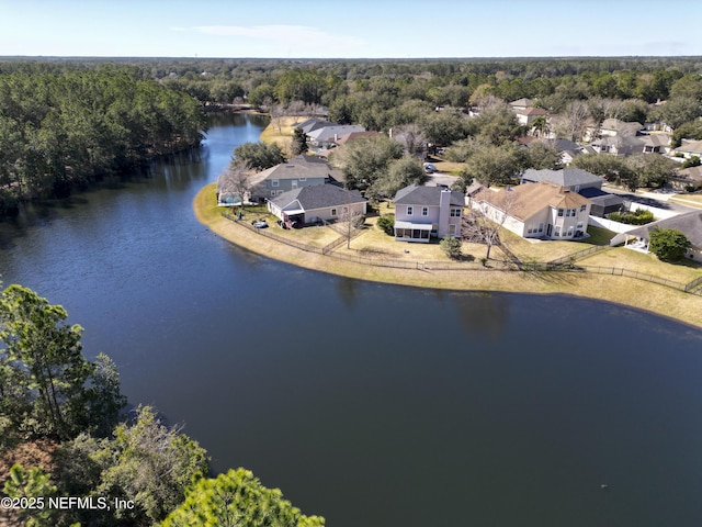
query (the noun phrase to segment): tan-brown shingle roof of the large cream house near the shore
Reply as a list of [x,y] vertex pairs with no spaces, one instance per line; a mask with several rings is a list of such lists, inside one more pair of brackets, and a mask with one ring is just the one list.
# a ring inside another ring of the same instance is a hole
[[475,200],[487,202],[519,220],[528,220],[546,206],[554,209],[579,209],[590,204],[590,200],[577,192],[551,181],[520,184],[498,192],[486,189]]

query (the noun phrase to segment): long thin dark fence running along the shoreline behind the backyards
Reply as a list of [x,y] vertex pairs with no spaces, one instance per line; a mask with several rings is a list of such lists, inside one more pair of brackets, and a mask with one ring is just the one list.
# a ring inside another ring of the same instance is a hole
[[[656,277],[654,274],[646,274],[638,271],[632,271],[630,269],[623,269],[621,267],[600,267],[600,266],[575,266],[573,262],[578,258],[584,258],[585,256],[599,253],[601,250],[607,250],[610,247],[600,247],[593,246],[587,249],[580,250],[569,256],[564,256],[563,258],[557,258],[552,261],[543,262],[543,261],[519,261],[517,266],[514,266],[513,260],[492,260],[490,259],[490,267],[485,267],[478,262],[461,262],[461,261],[407,261],[407,260],[392,260],[392,259],[382,259],[382,258],[367,258],[363,256],[355,255],[347,255],[343,253],[332,253],[332,250],[340,245],[342,245],[347,239],[344,237],[340,237],[333,240],[330,244],[327,244],[325,247],[315,247],[307,244],[301,244],[299,242],[295,242],[294,239],[286,238],[284,236],[279,236],[276,234],[270,233],[263,228],[256,228],[253,225],[250,225],[246,222],[237,221],[236,216],[229,212],[222,212],[222,215],[228,220],[231,220],[237,225],[242,226],[244,228],[248,228],[251,232],[254,232],[261,236],[267,238],[275,239],[281,244],[286,244],[292,247],[296,247],[301,250],[305,250],[308,253],[316,253],[318,255],[326,255],[332,258],[352,261],[354,264],[362,264],[365,266],[375,266],[375,267],[389,267],[395,269],[417,269],[417,270],[455,270],[455,271],[522,271],[522,272],[592,272],[597,274],[611,274],[614,277],[626,277],[633,278],[636,280],[644,280],[650,283],[657,283],[659,285],[665,285],[667,288],[676,289],[678,291],[682,291],[691,294],[702,295],[702,277],[692,280],[689,283],[679,283],[672,280],[667,280],[665,278]],[[514,257],[516,258],[516,257]]]

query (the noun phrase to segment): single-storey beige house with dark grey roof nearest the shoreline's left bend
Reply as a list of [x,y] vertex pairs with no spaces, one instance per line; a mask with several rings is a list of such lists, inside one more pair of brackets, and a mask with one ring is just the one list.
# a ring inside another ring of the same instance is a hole
[[281,221],[301,225],[342,218],[346,214],[365,215],[367,200],[358,190],[336,184],[302,187],[269,200],[268,210]]

